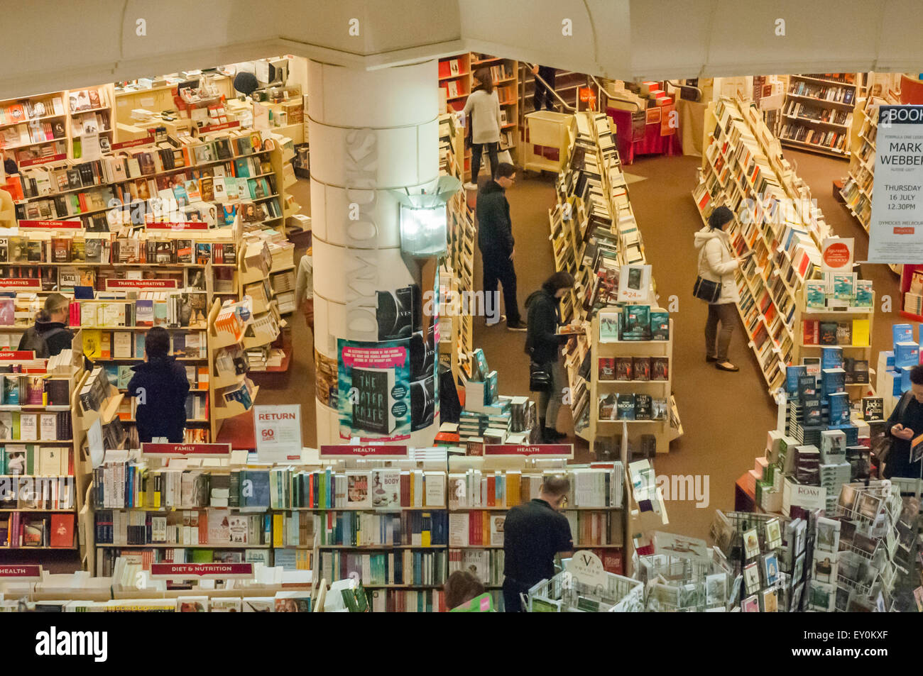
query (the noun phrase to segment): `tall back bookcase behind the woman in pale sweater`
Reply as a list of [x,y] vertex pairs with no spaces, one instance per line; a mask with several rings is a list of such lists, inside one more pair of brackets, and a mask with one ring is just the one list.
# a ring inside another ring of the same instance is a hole
[[[516,159],[520,138],[519,62],[481,53],[463,53],[439,59],[439,88],[443,91],[446,110],[461,111],[473,89],[477,87],[474,73],[490,68],[494,88],[500,101],[500,149],[509,150]],[[471,150],[464,148],[462,174],[471,174]],[[482,166],[485,166],[482,163]],[[487,163],[486,166],[490,166]]]

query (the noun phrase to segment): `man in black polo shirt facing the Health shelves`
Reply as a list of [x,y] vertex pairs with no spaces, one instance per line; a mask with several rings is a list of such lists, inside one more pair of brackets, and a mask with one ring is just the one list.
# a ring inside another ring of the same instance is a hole
[[521,612],[520,594],[555,575],[555,554],[570,552],[568,519],[557,510],[570,490],[565,477],[547,477],[539,497],[509,510],[503,524],[503,605]]

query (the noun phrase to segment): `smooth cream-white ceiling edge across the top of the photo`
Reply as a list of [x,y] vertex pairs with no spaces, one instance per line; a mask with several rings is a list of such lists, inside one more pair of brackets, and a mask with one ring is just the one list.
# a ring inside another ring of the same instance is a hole
[[[923,71],[918,0],[4,2],[0,98],[277,53],[378,68],[474,50],[619,79]],[[138,35],[138,21],[145,35]],[[359,35],[350,34],[358,20]],[[778,20],[785,35],[777,35]],[[564,35],[564,22],[572,34]],[[822,32],[821,32],[822,30]]]

